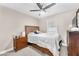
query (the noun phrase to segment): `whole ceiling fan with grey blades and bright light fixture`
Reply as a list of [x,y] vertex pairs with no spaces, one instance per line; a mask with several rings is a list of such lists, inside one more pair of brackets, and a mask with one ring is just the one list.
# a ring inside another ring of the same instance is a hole
[[47,12],[46,12],[46,9],[48,9],[48,8],[50,8],[50,7],[52,7],[52,6],[54,6],[56,3],[51,3],[51,4],[48,4],[48,5],[46,5],[46,4],[42,4],[42,3],[36,3],[37,4],[37,6],[39,7],[39,10],[30,10],[31,12],[33,11],[33,12],[35,12],[35,11],[37,11],[37,12],[39,12],[39,16],[44,16],[44,15],[46,15],[46,14],[48,14]]

